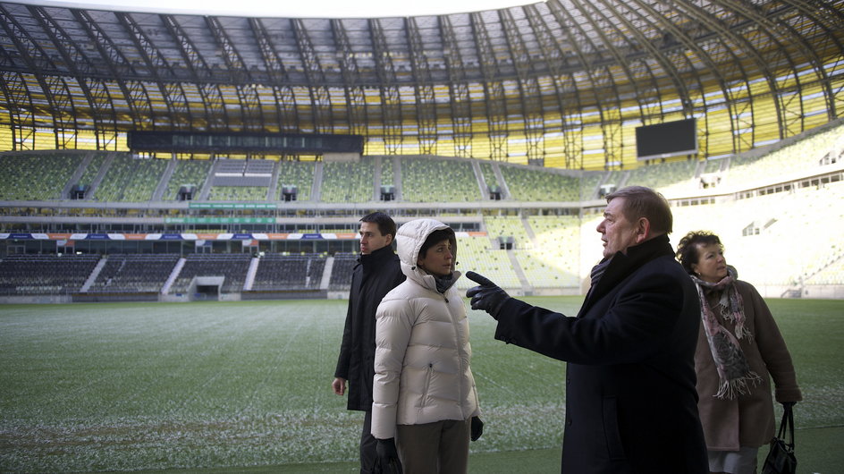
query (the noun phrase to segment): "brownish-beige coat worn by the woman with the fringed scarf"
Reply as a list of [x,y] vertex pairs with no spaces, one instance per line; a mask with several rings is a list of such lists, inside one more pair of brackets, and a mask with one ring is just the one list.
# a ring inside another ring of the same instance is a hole
[[[803,400],[791,355],[762,296],[753,285],[738,281],[739,294],[744,301],[745,327],[753,334],[748,340],[739,340],[750,368],[762,377],[762,383],[751,388],[749,394],[739,395],[734,400],[714,397],[718,391],[718,373],[715,370],[712,351],[706,342],[701,325],[697,337],[695,369],[697,372],[697,403],[700,420],[704,427],[706,447],[710,451],[738,451],[739,447],[759,447],[768,444],[774,436],[776,421],[773,417],[771,378],[776,386],[777,402],[798,402]],[[730,333],[735,326],[724,321],[716,308],[721,292],[707,295],[710,308],[719,322]]]

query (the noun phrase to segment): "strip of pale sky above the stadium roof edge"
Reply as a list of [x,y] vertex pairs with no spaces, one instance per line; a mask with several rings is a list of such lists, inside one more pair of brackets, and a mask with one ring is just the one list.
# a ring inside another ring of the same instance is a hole
[[124,12],[286,18],[376,18],[480,12],[540,0],[12,0]]

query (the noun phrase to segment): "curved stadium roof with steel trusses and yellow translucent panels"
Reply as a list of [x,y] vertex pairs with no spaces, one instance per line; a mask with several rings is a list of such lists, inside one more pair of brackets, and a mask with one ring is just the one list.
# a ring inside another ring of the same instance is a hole
[[368,154],[612,168],[636,163],[637,125],[696,117],[701,155],[717,157],[839,118],[842,45],[844,0],[340,19],[0,2],[0,147],[355,133]]

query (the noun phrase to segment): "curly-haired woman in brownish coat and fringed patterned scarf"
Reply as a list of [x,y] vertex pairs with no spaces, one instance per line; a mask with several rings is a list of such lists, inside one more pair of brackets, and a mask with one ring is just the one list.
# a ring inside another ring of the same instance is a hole
[[791,355],[762,296],[727,266],[717,235],[688,233],[677,258],[697,284],[701,326],[695,369],[709,470],[753,474],[774,436],[777,402],[803,400]]

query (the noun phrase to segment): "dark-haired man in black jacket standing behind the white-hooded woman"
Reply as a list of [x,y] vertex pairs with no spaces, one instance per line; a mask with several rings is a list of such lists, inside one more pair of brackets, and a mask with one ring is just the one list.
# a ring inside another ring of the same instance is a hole
[[396,224],[374,212],[360,219],[360,258],[351,274],[349,309],[343,329],[340,357],[334,370],[334,394],[346,393],[349,410],[365,411],[360,434],[360,472],[375,472],[378,459],[372,423],[372,379],[375,377],[376,309],[384,295],[404,281],[399,256],[392,251]]

